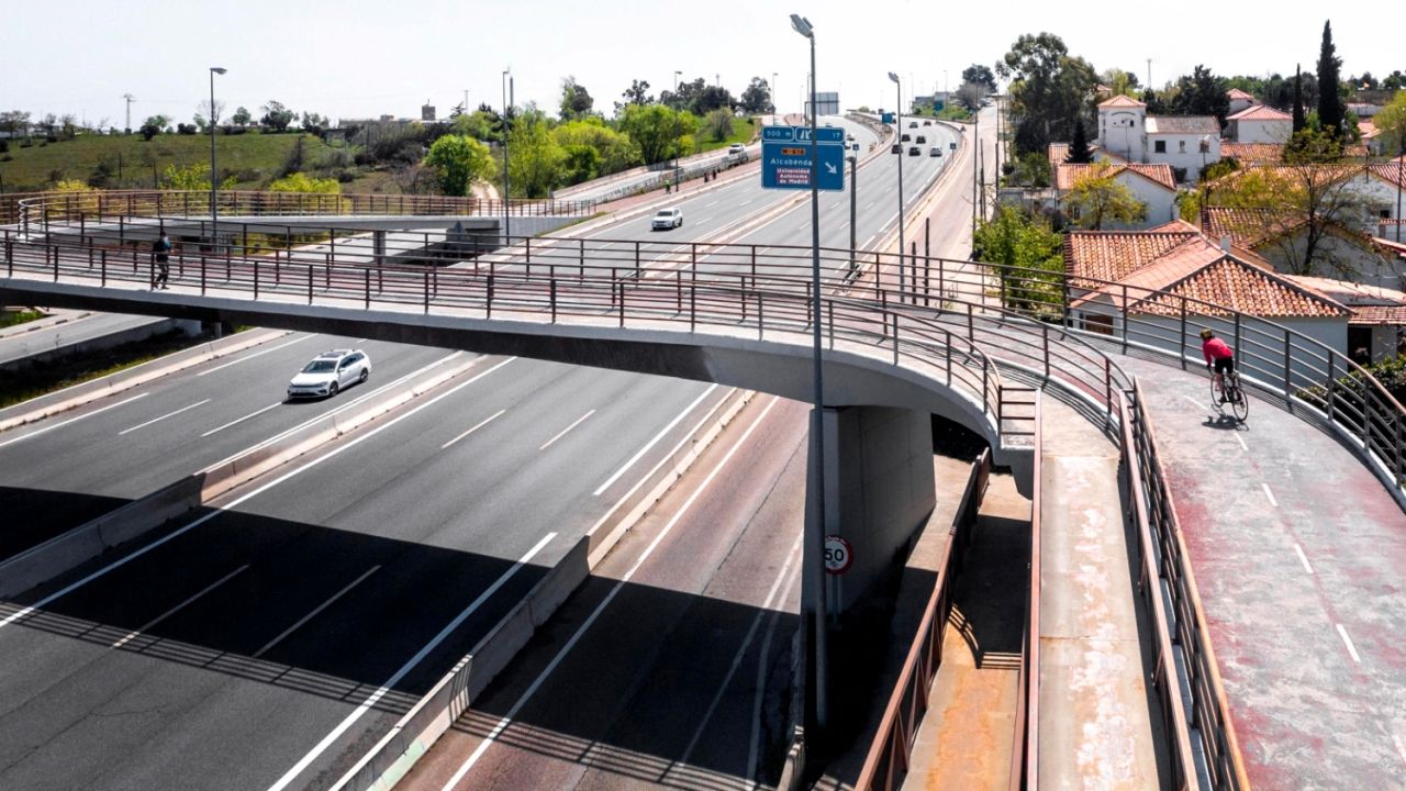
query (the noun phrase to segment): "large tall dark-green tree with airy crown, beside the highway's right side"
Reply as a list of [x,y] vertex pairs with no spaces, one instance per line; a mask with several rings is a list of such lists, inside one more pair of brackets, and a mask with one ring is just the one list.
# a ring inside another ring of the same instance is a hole
[[1091,113],[1098,75],[1054,34],[1021,35],[995,70],[1011,79],[1008,115],[1018,152],[1043,153],[1052,141],[1070,138],[1076,117]]

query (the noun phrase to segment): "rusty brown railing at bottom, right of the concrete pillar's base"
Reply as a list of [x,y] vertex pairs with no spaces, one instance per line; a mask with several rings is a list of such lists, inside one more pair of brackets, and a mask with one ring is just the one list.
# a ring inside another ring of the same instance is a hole
[[932,677],[942,666],[942,635],[952,612],[956,580],[962,573],[962,560],[972,542],[972,529],[976,525],[977,510],[981,507],[981,497],[986,493],[990,474],[991,452],[983,450],[981,456],[972,463],[962,502],[952,519],[952,538],[938,560],[938,578],[932,586],[932,595],[922,612],[918,633],[912,647],[908,649],[908,657],[898,673],[898,683],[889,697],[879,732],[875,735],[869,754],[865,757],[865,766],[859,771],[859,780],[855,783],[856,791],[893,791],[903,785],[903,778],[908,771],[912,740],[918,736],[922,715],[928,711]]

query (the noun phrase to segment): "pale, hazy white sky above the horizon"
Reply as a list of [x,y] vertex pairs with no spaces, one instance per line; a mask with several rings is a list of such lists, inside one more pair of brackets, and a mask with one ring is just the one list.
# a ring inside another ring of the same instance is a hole
[[[188,121],[209,93],[208,68],[224,66],[217,99],[254,117],[269,100],[330,118],[419,117],[426,101],[447,115],[464,90],[472,107],[499,107],[505,69],[517,104],[551,113],[568,75],[610,115],[633,79],[657,94],[672,87],[675,70],[734,94],[775,73],[778,106],[790,111],[800,108],[810,58],[792,13],[815,28],[820,90],[839,91],[844,107],[893,107],[889,72],[904,96],[955,90],[962,69],[993,65],[1025,32],[1054,32],[1097,69],[1123,68],[1143,82],[1150,59],[1161,86],[1197,63],[1218,75],[1313,70],[1324,21],[1288,4],[1271,11],[1265,0],[1108,8],[1049,0],[4,0],[0,110],[73,113],[121,128],[131,93],[134,127],[153,114]],[[1331,18],[1343,76],[1406,70],[1406,51],[1393,46],[1406,6],[1361,8]]]

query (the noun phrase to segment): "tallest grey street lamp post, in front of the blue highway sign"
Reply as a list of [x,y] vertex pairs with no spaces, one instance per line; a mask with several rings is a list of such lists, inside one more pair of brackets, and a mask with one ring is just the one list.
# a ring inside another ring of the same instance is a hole
[[[815,449],[811,459],[808,480],[806,486],[807,519],[806,519],[806,549],[803,557],[806,581],[810,588],[810,633],[813,639],[813,656],[815,657],[814,688],[815,688],[815,726],[821,732],[825,729],[828,718],[828,704],[825,694],[825,570],[821,559],[825,556],[825,381],[821,374],[821,329],[820,329],[820,141],[815,138],[815,31],[810,20],[800,14],[792,14],[792,28],[810,39],[810,297],[811,297],[811,329],[813,335],[813,401],[810,411],[810,441]],[[803,586],[807,587],[807,586]]]

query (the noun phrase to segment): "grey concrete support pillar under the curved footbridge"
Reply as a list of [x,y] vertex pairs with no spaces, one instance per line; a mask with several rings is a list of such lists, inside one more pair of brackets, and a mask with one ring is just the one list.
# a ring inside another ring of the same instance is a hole
[[894,407],[825,410],[825,533],[853,563],[827,576],[831,614],[853,605],[893,569],[936,504],[928,412]]

